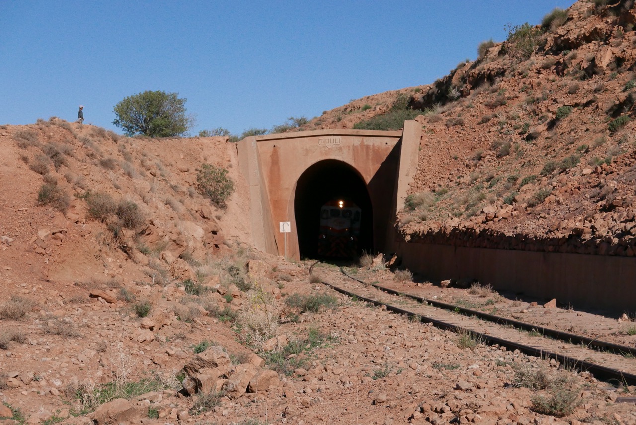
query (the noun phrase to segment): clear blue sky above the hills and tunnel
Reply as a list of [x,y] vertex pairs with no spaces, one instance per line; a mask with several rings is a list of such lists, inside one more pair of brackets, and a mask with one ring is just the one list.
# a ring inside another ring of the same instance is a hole
[[179,93],[190,133],[271,128],[430,84],[506,24],[573,0],[0,0],[0,124],[50,116],[120,132],[113,107]]

